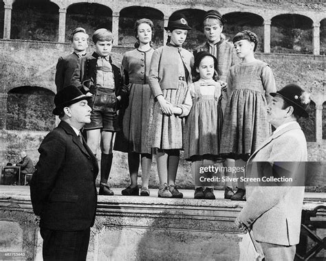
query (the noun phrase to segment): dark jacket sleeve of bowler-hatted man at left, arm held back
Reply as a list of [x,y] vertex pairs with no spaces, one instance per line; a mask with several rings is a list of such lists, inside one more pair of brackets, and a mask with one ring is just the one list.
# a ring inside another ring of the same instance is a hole
[[39,216],[56,182],[58,171],[65,161],[65,140],[58,133],[49,133],[40,148],[39,162],[30,183],[34,213]]

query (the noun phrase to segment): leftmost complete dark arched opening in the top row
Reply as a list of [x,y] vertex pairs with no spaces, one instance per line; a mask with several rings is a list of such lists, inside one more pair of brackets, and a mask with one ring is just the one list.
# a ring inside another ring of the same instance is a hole
[[58,5],[49,0],[16,0],[12,4],[12,39],[58,40]]

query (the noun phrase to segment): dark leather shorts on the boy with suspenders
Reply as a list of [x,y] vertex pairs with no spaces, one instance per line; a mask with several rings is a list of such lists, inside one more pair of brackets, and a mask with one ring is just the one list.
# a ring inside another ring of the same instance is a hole
[[102,131],[120,131],[117,113],[117,98],[113,89],[97,88],[91,100],[91,123],[85,124],[86,131],[100,128]]

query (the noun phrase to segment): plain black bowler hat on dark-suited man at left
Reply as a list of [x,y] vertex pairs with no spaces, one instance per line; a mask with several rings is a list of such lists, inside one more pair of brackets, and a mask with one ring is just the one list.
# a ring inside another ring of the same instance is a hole
[[83,94],[80,89],[74,85],[69,85],[58,91],[54,96],[56,108],[52,111],[54,115],[60,115],[63,108],[72,105],[80,100],[89,100],[91,96]]

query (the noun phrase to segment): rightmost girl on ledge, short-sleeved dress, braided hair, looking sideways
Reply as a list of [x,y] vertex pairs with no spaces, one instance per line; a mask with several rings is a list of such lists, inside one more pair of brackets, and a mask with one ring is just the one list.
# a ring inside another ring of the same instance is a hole
[[[257,35],[248,30],[239,32],[233,38],[233,44],[241,63],[232,66],[228,73],[228,103],[220,152],[229,159],[235,159],[235,166],[244,169],[252,152],[270,135],[267,104],[270,92],[275,92],[276,87],[270,66],[254,58]],[[246,200],[244,182],[240,179],[244,174],[238,173],[238,190],[230,197],[231,200]]]

